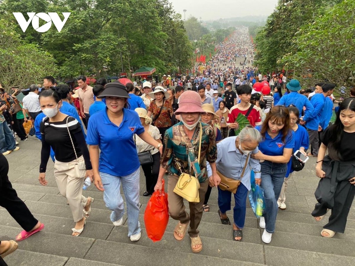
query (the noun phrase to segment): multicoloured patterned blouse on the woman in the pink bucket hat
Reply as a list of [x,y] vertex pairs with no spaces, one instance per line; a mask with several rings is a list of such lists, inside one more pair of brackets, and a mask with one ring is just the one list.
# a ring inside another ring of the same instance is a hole
[[[183,165],[185,173],[193,174],[193,169],[188,162],[188,148],[185,140],[188,139],[184,130],[182,122],[170,127],[165,131],[164,136],[164,152],[160,158],[160,165],[169,172],[180,175],[179,163]],[[206,161],[214,163],[217,160],[217,145],[214,136],[213,128],[205,123],[202,123],[202,139],[201,139],[201,155],[200,155],[200,169],[198,181],[203,183],[208,179],[206,170]],[[194,147],[196,160],[198,158],[198,148],[200,145],[200,124],[196,126],[195,132],[192,136],[191,143]],[[195,175],[195,174],[193,174]]]

